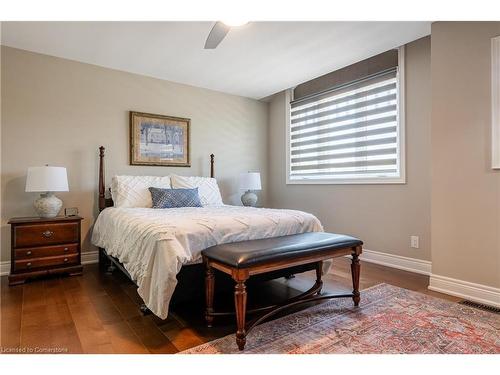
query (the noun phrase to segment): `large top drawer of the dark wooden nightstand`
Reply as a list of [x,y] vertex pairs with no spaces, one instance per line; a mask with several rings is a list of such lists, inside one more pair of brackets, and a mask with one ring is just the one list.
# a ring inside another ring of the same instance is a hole
[[79,241],[78,222],[18,225],[14,228],[13,246],[30,247]]

